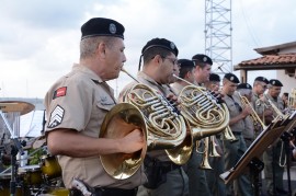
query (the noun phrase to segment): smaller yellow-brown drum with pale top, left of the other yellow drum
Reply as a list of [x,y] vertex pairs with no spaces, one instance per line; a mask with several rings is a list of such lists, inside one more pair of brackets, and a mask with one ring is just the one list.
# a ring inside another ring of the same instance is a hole
[[19,168],[19,173],[23,174],[24,183],[27,186],[39,186],[43,183],[42,171],[38,164]]

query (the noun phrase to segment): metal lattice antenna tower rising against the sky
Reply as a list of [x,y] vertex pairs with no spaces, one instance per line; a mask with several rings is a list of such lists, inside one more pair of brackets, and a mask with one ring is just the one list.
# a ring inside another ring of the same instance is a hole
[[232,72],[231,0],[205,0],[205,54],[213,72]]

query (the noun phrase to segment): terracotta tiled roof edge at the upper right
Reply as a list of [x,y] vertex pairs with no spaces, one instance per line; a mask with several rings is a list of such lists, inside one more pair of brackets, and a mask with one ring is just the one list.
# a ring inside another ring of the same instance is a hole
[[264,55],[263,57],[244,60],[235,66],[235,70],[239,69],[284,69],[296,68],[296,53]]

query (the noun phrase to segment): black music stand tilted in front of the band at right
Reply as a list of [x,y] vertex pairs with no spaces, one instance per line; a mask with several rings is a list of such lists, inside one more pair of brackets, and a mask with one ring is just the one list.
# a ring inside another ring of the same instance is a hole
[[[280,139],[284,131],[288,131],[296,126],[295,116],[296,112],[286,119],[278,119],[269,125],[269,127],[263,130],[247,149],[236,165],[229,171],[220,174],[220,178],[224,180],[225,184],[237,178],[247,166],[251,166],[259,175],[264,168],[264,164],[260,161],[260,157],[269,146],[271,146],[276,139]],[[254,186],[258,186],[258,184],[254,184]],[[259,187],[255,187],[255,192],[257,191],[259,191]],[[257,194],[259,195],[259,193]]]

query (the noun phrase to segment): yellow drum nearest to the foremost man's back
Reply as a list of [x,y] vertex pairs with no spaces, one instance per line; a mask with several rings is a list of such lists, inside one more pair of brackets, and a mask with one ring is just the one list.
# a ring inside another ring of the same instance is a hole
[[42,174],[46,181],[61,177],[61,169],[55,155],[41,157]]

